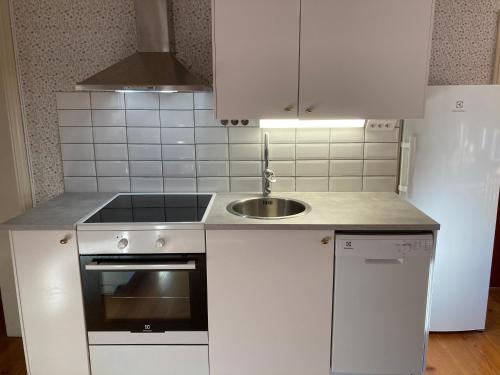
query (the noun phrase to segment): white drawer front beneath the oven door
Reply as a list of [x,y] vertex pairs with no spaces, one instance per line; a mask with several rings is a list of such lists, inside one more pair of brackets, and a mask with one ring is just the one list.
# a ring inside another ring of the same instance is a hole
[[92,375],[208,375],[207,345],[90,346]]

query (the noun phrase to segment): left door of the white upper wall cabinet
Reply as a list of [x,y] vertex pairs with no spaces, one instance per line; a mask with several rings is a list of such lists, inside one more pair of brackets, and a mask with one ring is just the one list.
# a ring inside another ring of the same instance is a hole
[[297,117],[300,0],[213,0],[216,117]]

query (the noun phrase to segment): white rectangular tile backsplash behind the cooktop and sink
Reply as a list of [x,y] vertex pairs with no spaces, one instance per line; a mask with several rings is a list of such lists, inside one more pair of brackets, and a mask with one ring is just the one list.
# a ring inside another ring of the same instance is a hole
[[264,132],[275,192],[396,190],[399,128],[223,126],[210,92],[56,99],[67,191],[260,191]]

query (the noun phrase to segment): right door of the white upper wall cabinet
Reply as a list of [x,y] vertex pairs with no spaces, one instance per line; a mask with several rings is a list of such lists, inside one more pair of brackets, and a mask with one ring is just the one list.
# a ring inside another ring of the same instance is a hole
[[301,118],[421,118],[433,0],[302,0]]

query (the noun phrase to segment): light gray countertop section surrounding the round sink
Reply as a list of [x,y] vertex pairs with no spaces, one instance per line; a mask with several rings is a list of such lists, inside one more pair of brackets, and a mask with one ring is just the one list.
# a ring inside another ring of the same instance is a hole
[[229,203],[259,194],[218,193],[206,229],[335,229],[353,231],[431,231],[439,224],[395,193],[275,193],[308,203],[311,211],[289,219],[261,220],[233,215]]

